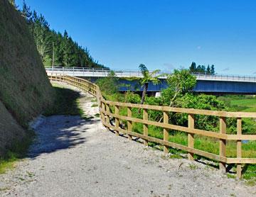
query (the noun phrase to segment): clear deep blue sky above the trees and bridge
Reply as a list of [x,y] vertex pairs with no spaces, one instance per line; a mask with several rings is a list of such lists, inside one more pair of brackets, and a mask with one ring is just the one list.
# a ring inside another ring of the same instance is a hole
[[[21,5],[23,0],[16,0]],[[256,1],[26,0],[112,69],[215,64],[256,75]]]

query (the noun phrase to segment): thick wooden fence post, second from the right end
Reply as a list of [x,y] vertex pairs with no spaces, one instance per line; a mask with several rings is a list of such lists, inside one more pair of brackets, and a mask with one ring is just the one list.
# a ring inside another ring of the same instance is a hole
[[[225,117],[220,117],[220,133],[225,134],[226,133],[226,118]],[[221,157],[226,157],[226,140],[220,139],[220,156]],[[226,167],[225,167],[225,162],[220,162],[220,171],[225,172]]]

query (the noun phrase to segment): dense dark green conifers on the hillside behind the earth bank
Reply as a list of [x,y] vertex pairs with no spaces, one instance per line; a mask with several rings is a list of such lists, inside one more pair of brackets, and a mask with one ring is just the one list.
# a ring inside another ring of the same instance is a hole
[[[15,6],[14,0],[9,1]],[[26,18],[45,67],[105,67],[92,58],[87,48],[78,45],[66,30],[62,34],[50,29],[46,18],[35,10],[31,11],[25,1],[18,11]]]

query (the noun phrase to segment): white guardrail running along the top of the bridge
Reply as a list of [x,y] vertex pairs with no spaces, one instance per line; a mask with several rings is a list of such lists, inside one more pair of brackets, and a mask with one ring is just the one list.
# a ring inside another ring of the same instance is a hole
[[[105,68],[88,68],[88,67],[49,67],[46,68],[48,75],[67,74],[75,77],[107,77],[110,72],[114,71],[117,77],[143,77],[139,70],[132,69],[105,69]],[[151,71],[149,71],[151,72]],[[158,74],[171,74],[169,71],[161,71]],[[157,75],[158,75],[157,74]],[[193,73],[197,80],[209,81],[242,81],[256,82],[256,76],[241,76],[235,74],[199,74]],[[166,79],[166,76],[159,77]]]

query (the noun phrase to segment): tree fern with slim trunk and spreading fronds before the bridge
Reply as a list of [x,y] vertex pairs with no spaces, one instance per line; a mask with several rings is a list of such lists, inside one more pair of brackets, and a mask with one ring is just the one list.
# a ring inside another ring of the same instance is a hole
[[153,84],[159,84],[160,82],[159,77],[161,75],[156,75],[160,72],[159,69],[156,69],[153,72],[149,72],[149,70],[144,64],[139,64],[139,69],[143,75],[142,79],[140,79],[140,84],[142,84],[143,86],[142,100],[141,100],[141,104],[143,104],[146,96],[146,91],[149,88],[149,82],[152,81]]

